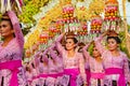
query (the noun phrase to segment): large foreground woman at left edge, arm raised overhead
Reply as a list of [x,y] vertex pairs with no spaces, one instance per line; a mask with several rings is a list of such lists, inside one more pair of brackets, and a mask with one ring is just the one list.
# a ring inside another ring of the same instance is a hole
[[26,80],[22,67],[24,37],[14,12],[6,12],[0,23],[0,85],[25,86]]

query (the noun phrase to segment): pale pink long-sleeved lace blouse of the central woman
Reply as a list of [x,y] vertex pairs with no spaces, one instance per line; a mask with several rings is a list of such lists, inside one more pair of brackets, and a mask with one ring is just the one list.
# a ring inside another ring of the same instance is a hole
[[62,44],[60,43],[61,40],[63,38],[63,34],[61,34],[57,39],[56,39],[56,49],[58,51],[58,53],[62,55],[63,57],[63,66],[65,69],[79,69],[81,77],[83,78],[83,82],[87,82],[87,75],[86,75],[86,71],[84,71],[84,59],[81,53],[77,53],[75,51],[75,55],[74,57],[67,57],[67,51],[64,48],[64,46],[62,46]]

